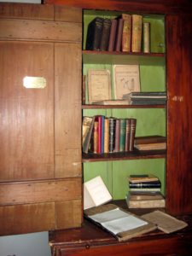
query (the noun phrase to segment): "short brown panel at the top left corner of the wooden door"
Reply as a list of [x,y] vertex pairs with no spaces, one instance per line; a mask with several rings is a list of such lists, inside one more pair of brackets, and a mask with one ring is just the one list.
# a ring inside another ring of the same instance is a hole
[[54,20],[54,7],[32,3],[0,3],[0,17],[28,20]]

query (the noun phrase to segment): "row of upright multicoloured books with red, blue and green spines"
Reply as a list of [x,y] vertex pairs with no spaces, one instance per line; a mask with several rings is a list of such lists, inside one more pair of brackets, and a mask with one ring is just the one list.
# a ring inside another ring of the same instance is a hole
[[82,124],[83,152],[94,154],[128,152],[134,148],[137,119],[116,119],[105,116],[84,117]]

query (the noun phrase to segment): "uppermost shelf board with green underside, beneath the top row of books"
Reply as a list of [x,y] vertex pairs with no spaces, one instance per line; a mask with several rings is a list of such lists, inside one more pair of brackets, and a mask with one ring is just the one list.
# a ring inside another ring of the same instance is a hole
[[83,50],[83,64],[166,66],[166,54]]

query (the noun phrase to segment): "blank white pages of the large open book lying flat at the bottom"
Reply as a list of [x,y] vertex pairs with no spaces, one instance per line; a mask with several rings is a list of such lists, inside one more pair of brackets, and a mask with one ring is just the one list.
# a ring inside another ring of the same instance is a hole
[[92,218],[94,221],[102,224],[104,228],[113,232],[115,235],[119,232],[133,230],[148,224],[140,218],[136,218],[129,213],[119,210],[119,208],[91,215],[89,218]]

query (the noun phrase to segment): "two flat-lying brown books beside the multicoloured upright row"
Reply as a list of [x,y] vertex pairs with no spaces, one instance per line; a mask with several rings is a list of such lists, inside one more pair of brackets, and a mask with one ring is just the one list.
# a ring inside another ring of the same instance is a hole
[[160,135],[135,137],[134,148],[138,150],[166,149],[166,137]]

